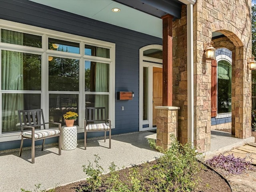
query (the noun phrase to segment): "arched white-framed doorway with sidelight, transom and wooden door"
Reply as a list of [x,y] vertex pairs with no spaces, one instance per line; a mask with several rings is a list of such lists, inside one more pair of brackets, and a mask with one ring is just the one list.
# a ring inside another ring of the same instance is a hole
[[162,46],[144,50],[140,62],[139,131],[156,130],[155,106],[162,106]]

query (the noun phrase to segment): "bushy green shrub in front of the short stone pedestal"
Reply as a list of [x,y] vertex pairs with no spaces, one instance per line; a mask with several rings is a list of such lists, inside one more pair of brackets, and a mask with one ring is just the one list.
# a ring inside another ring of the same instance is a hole
[[198,164],[198,152],[191,142],[182,145],[174,135],[170,136],[171,146],[157,161],[163,166],[168,183],[175,185],[174,191],[190,191],[198,184],[198,172],[203,168]]

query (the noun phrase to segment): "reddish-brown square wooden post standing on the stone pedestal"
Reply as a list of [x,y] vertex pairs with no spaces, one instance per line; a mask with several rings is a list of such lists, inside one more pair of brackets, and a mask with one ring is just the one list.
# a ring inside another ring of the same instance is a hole
[[163,21],[163,106],[172,106],[172,19],[162,16]]

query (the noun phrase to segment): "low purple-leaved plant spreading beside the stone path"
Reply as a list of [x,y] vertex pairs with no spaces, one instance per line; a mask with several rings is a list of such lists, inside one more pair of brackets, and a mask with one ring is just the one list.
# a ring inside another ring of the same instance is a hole
[[234,154],[224,156],[219,154],[213,158],[206,160],[206,164],[212,168],[221,168],[230,174],[241,174],[246,170],[254,170],[250,161],[246,161],[245,158],[236,158]]

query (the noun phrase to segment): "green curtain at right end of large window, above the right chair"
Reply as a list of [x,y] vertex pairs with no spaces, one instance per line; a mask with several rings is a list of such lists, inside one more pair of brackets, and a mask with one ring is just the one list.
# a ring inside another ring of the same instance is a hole
[[[96,48],[96,56],[109,58],[105,48]],[[109,65],[96,62],[95,72],[95,92],[108,92],[109,84]],[[108,95],[95,95],[95,107],[105,107],[108,117]]]

